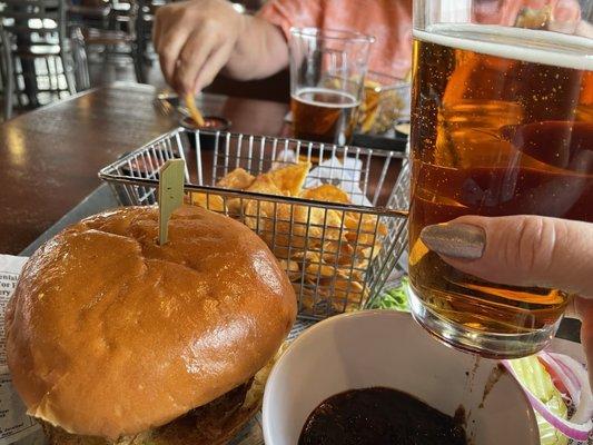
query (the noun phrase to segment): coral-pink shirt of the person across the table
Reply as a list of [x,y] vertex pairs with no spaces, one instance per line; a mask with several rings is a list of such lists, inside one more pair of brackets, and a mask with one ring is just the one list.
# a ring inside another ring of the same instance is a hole
[[412,66],[412,0],[270,0],[258,16],[280,27],[287,40],[290,27],[374,36],[373,71],[403,78]]

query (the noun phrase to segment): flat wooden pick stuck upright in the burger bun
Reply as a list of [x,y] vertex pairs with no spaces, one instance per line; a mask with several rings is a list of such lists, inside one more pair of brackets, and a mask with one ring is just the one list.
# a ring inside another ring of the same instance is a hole
[[185,168],[186,162],[182,159],[169,159],[160,168],[158,192],[160,246],[167,244],[172,212],[184,204]]

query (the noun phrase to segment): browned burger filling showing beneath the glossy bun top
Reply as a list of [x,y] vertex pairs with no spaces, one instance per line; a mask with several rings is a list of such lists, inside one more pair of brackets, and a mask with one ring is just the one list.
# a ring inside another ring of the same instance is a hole
[[235,436],[259,409],[258,403],[246,403],[254,389],[254,378],[213,402],[191,409],[157,428],[121,437],[116,442],[102,437],[70,434],[60,427],[42,423],[50,445],[221,445]]

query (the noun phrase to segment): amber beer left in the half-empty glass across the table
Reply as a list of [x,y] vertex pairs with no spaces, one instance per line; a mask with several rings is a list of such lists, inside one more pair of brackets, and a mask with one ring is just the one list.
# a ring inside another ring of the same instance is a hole
[[295,138],[347,144],[356,123],[358,105],[359,101],[345,91],[300,89],[290,100]]

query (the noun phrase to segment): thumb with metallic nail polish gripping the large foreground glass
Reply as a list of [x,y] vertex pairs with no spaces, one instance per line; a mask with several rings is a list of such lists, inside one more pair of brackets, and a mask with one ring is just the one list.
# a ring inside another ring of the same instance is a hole
[[425,227],[444,261],[487,281],[593,296],[593,224],[540,216],[464,216]]

